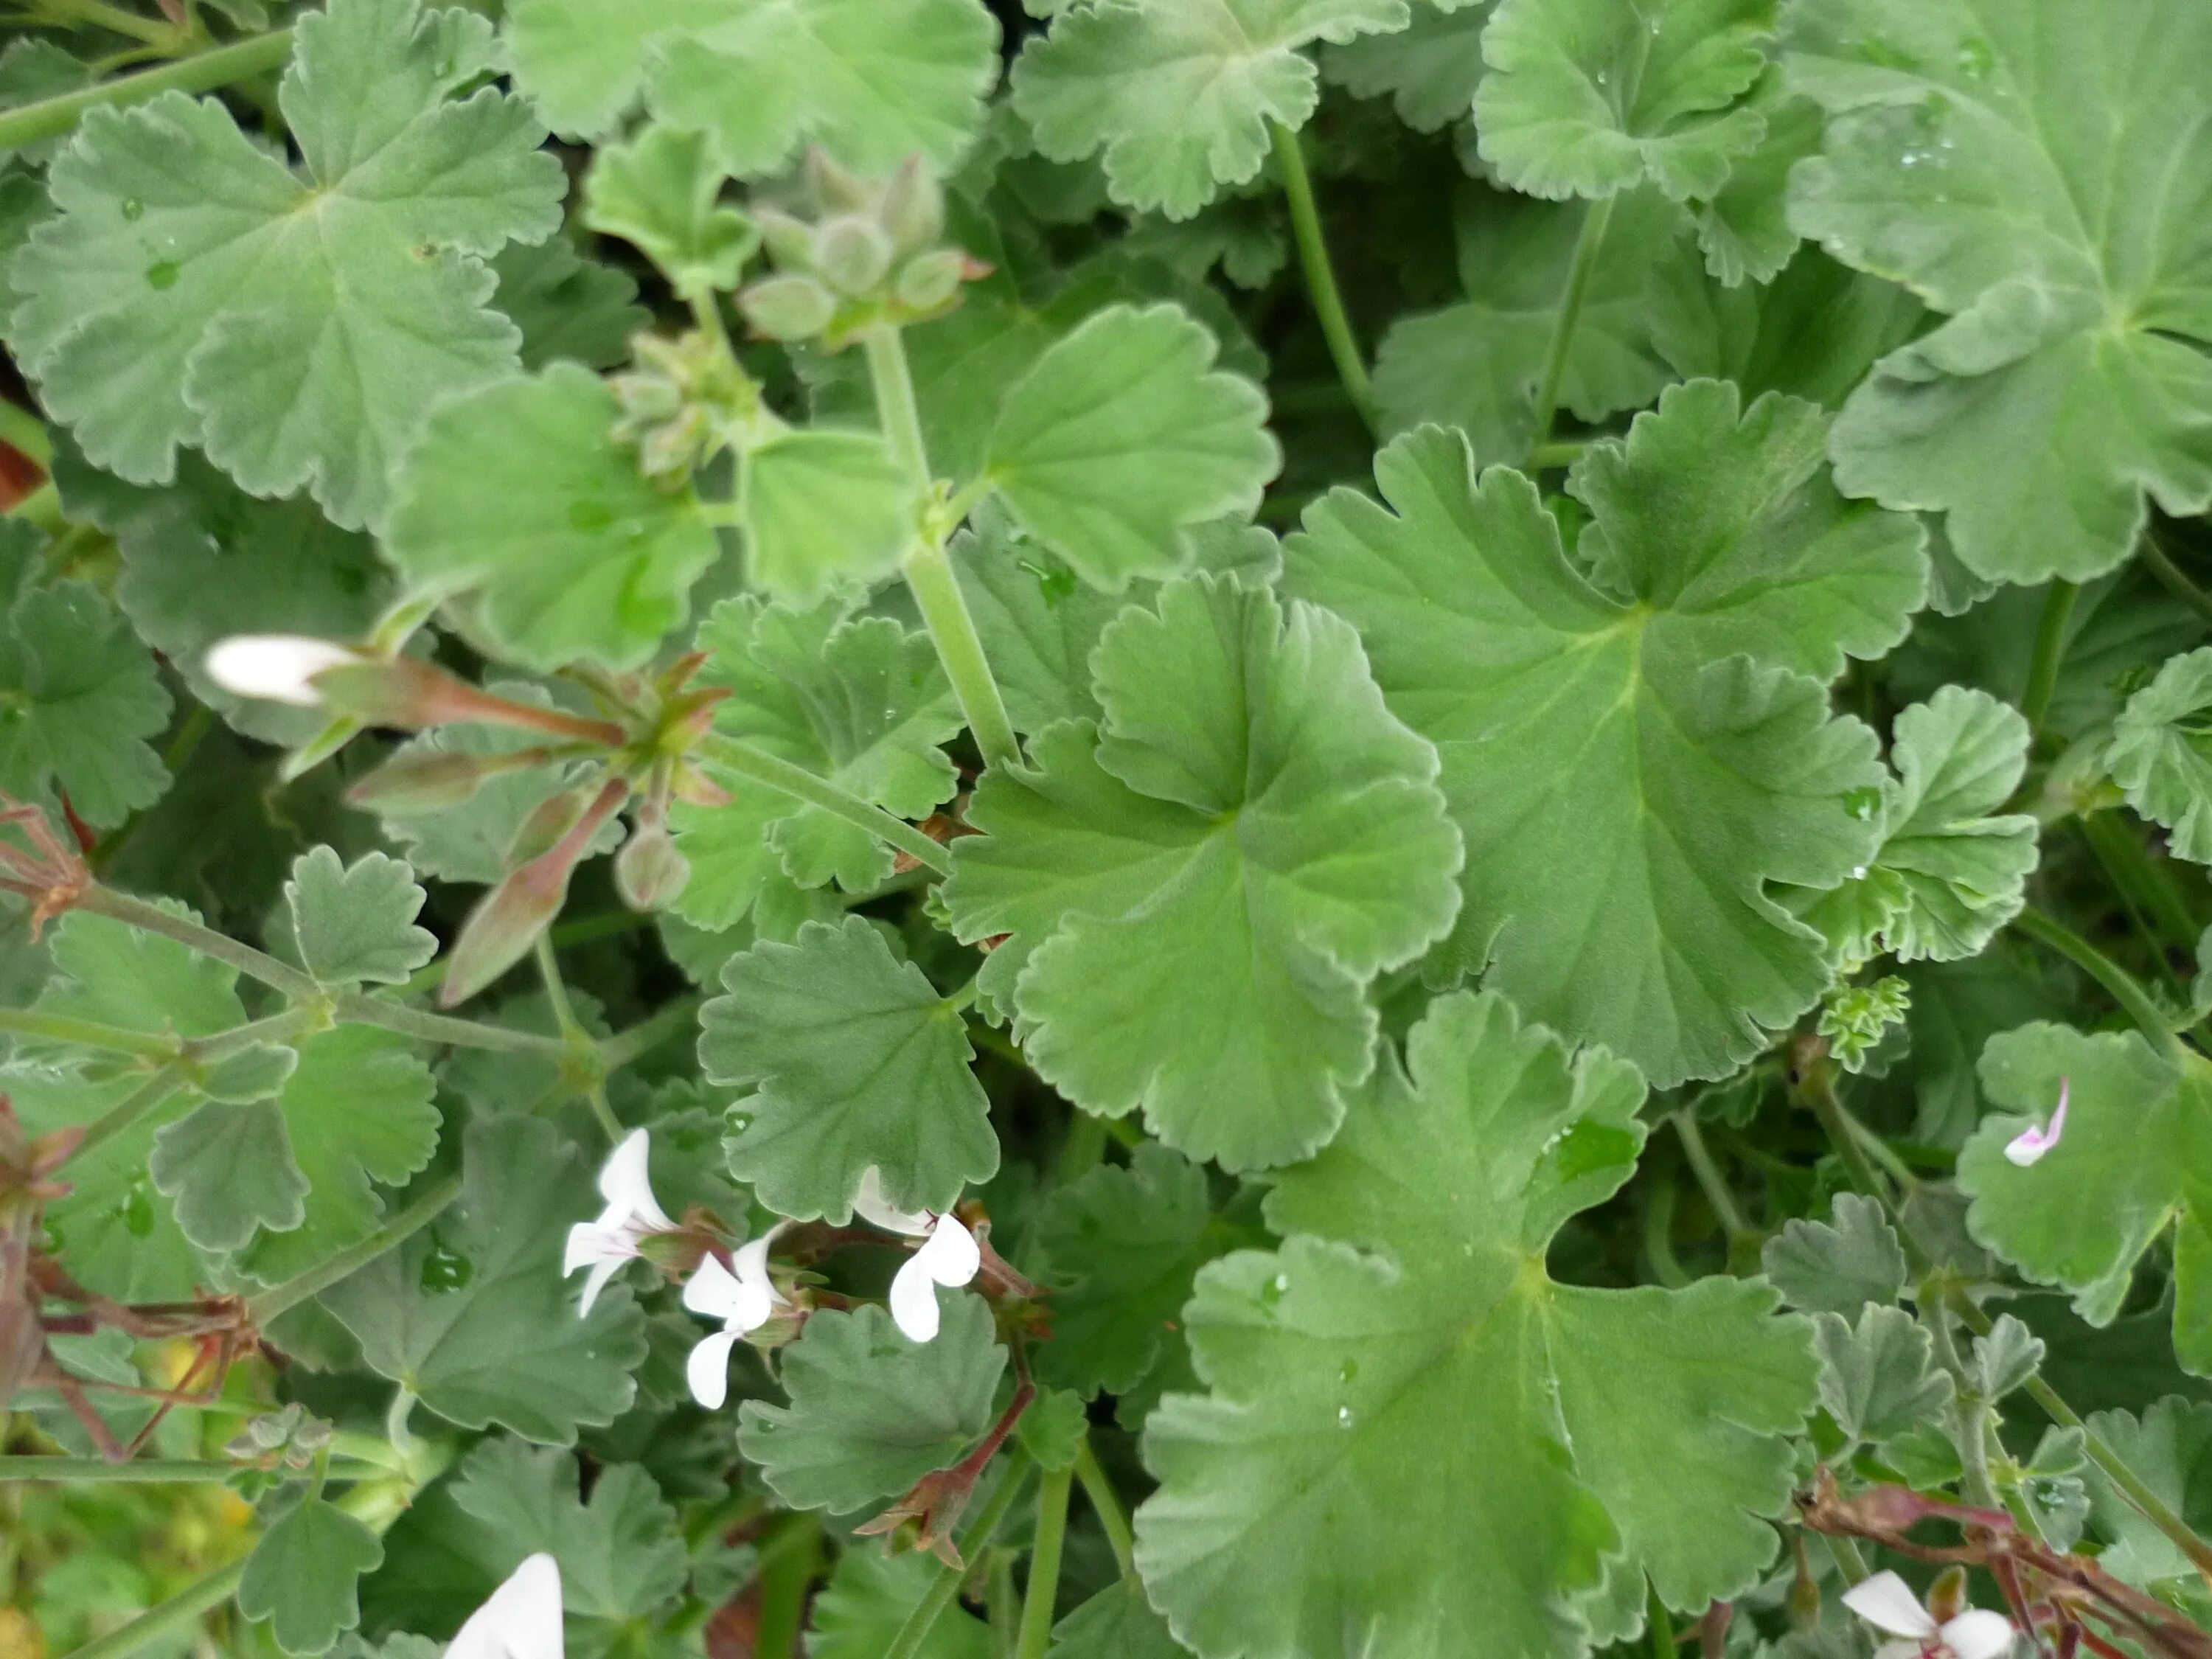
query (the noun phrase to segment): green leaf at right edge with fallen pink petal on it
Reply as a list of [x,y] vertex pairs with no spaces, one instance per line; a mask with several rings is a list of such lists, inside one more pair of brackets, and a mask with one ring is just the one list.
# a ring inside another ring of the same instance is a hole
[[[2059,1144],[2026,1168],[2006,1161],[2062,1088]],[[1982,1048],[1982,1091],[2000,1115],[1958,1155],[1975,1241],[2110,1325],[2135,1263],[2174,1225],[2174,1354],[2212,1376],[2212,1062],[2183,1053],[2177,1068],[2132,1031],[2031,1024]]]

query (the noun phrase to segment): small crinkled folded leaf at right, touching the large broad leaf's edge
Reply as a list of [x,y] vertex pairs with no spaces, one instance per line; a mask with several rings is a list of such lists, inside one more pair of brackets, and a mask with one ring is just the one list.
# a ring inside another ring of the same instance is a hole
[[1889,759],[1880,849],[1803,916],[1847,967],[1880,951],[1975,956],[2020,914],[2035,869],[2035,818],[2002,814],[2028,765],[2028,723],[1989,692],[1944,686],[1898,714]]

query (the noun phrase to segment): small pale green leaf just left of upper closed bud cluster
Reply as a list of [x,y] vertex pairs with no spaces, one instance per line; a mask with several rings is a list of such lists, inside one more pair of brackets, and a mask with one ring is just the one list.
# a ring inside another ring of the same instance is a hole
[[584,223],[628,241],[679,294],[728,292],[761,232],[737,208],[717,206],[723,179],[703,133],[648,126],[593,157]]

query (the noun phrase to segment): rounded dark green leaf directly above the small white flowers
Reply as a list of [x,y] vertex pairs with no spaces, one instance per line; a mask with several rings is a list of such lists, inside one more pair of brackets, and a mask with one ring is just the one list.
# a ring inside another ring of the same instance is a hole
[[730,1172],[770,1210],[843,1223],[869,1168],[885,1203],[951,1210],[998,1170],[960,1002],[872,922],[807,922],[732,956],[721,984],[699,1011],[699,1066],[754,1091],[732,1108]]

